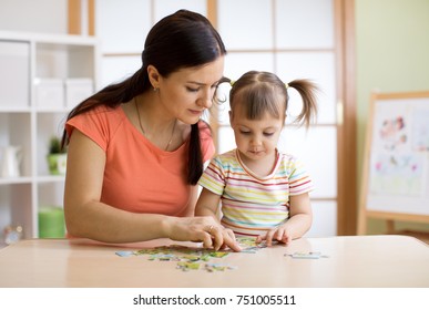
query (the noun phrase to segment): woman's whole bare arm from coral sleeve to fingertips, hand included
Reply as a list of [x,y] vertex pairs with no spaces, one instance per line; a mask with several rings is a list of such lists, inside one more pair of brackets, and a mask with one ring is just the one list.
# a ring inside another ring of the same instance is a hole
[[[218,249],[226,244],[233,249],[239,249],[235,240],[210,231],[210,227],[217,225],[212,217],[134,214],[101,203],[104,165],[105,154],[100,146],[74,130],[69,144],[64,193],[65,224],[70,235],[102,242],[171,238],[203,241],[207,248]],[[195,199],[196,196],[191,199],[190,216]]]

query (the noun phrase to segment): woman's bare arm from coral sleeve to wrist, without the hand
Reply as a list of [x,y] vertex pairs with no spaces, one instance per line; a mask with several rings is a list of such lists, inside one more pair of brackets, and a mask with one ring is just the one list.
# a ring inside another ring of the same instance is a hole
[[133,214],[100,202],[105,154],[74,130],[69,144],[64,213],[68,231],[108,242],[133,242],[166,237],[165,216]]

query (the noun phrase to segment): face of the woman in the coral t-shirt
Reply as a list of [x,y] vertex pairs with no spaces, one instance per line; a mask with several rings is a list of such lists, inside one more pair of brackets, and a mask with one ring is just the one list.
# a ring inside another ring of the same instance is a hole
[[161,78],[160,100],[164,108],[186,124],[198,122],[210,108],[224,73],[224,56],[203,66],[181,69]]

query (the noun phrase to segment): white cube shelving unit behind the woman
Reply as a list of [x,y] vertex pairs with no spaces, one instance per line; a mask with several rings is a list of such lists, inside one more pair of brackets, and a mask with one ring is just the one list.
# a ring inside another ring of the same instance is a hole
[[0,31],[0,163],[6,146],[22,149],[20,176],[0,176],[1,239],[8,225],[22,226],[23,238],[37,238],[39,209],[63,205],[64,177],[48,169],[49,140],[61,137],[64,117],[79,102],[65,100],[65,86],[61,100],[52,101],[55,93],[47,89],[41,95],[38,83],[90,79],[96,90],[98,53],[90,37]]

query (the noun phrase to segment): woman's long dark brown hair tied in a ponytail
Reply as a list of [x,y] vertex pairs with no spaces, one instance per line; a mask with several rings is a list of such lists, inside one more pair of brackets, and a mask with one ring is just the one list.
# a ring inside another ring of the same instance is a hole
[[[160,20],[149,32],[142,52],[142,68],[131,78],[111,84],[76,105],[67,120],[104,105],[116,107],[152,87],[147,66],[163,78],[184,68],[201,66],[226,54],[225,45],[211,22],[202,14],[180,10]],[[195,185],[203,173],[198,123],[192,124],[188,149],[188,184]],[[64,130],[62,146],[69,142]]]

